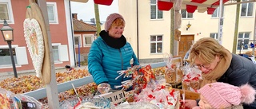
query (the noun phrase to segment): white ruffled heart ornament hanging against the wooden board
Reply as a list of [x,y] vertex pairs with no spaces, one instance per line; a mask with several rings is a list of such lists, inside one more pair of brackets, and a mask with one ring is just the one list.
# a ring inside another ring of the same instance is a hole
[[42,30],[38,21],[35,19],[30,20],[30,18],[25,19],[23,28],[26,45],[32,58],[36,76],[42,77],[42,62],[44,57]]

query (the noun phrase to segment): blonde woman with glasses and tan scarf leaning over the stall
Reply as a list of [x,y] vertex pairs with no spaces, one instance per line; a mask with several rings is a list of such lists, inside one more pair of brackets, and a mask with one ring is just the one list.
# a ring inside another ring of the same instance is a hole
[[[214,38],[202,38],[190,50],[190,65],[202,71],[202,84],[223,82],[234,86],[250,84],[256,88],[256,65],[245,57],[230,53]],[[197,105],[195,100],[186,100],[186,107]],[[256,102],[243,104],[246,109],[256,108]]]

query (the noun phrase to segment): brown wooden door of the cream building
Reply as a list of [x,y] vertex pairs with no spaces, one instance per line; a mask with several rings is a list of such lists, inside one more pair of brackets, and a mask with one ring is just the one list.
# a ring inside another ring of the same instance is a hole
[[178,43],[178,56],[185,56],[186,52],[193,45],[194,35],[182,35],[181,40]]

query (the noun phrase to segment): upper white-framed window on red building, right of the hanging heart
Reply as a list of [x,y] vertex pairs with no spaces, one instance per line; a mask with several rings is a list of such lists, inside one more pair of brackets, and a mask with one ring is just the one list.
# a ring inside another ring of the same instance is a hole
[[58,11],[56,2],[46,2],[49,23],[58,24]]

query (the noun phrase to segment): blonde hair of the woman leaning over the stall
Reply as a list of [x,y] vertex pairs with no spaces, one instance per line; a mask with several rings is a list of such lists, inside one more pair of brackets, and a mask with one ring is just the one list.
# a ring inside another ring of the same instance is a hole
[[198,59],[203,63],[211,63],[215,56],[226,56],[226,49],[218,43],[214,38],[204,37],[199,39],[192,45],[190,50],[190,65],[194,64],[194,60]]

